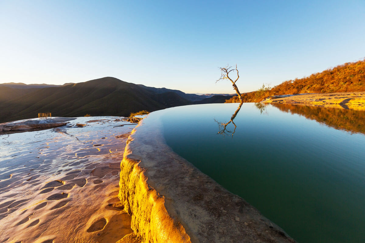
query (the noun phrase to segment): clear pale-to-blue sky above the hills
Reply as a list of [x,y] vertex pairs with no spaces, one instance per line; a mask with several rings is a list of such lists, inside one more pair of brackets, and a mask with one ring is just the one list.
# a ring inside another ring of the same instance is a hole
[[241,93],[365,57],[365,1],[0,0],[0,83]]

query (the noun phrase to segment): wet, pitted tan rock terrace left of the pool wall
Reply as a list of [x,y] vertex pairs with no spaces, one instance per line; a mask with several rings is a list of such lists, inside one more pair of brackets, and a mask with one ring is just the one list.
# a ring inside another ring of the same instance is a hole
[[1,134],[0,242],[140,242],[117,197],[135,125],[80,117],[53,129]]

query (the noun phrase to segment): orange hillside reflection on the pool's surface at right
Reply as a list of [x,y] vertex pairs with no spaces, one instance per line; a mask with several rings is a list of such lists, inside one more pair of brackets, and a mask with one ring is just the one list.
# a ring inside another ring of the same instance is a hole
[[334,129],[365,134],[364,111],[274,103],[271,105],[281,111],[303,115],[307,119],[315,120]]

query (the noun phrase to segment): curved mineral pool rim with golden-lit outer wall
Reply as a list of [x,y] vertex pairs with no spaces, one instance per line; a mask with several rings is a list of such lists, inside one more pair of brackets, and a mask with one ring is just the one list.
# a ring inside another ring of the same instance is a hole
[[[161,122],[142,119],[128,138],[119,199],[142,242],[295,242],[241,197],[166,145]],[[258,240],[258,241],[257,241]]]

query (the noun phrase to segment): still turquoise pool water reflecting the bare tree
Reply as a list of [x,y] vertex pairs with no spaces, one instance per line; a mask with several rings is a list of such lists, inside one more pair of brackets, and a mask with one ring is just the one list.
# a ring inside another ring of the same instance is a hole
[[165,110],[167,144],[297,242],[365,242],[365,113],[244,103],[218,134],[237,105]]

